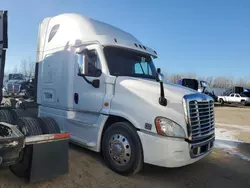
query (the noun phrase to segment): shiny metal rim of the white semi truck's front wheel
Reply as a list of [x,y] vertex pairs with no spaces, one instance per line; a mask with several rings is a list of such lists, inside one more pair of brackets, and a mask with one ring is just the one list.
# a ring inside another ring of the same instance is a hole
[[128,139],[122,134],[114,134],[109,140],[110,158],[118,165],[125,165],[131,158],[131,147]]

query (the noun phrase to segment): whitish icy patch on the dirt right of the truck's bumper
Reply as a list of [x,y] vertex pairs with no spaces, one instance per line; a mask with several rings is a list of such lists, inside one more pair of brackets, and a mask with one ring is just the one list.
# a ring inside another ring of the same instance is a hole
[[[215,147],[220,148],[226,153],[237,156],[245,161],[250,162],[250,144],[240,141],[240,132],[241,131],[249,131],[249,127],[240,127],[240,126],[231,126],[232,128],[241,129],[239,131],[236,130],[228,130],[225,128],[216,128],[215,129]],[[247,130],[246,130],[247,129]]]

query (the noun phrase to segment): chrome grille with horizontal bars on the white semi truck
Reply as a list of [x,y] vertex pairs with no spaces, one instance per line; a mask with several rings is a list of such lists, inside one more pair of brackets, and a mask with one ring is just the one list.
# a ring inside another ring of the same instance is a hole
[[214,133],[214,101],[189,101],[189,134],[192,139]]

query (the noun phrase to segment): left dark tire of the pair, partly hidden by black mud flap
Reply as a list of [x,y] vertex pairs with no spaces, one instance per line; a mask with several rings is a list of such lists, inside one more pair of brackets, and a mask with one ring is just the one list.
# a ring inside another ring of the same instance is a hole
[[[41,135],[42,130],[39,121],[36,118],[24,117],[16,120],[16,125],[20,128],[21,132],[26,136]],[[33,146],[26,146],[20,154],[21,160],[11,165],[10,170],[18,177],[29,178],[32,162]]]

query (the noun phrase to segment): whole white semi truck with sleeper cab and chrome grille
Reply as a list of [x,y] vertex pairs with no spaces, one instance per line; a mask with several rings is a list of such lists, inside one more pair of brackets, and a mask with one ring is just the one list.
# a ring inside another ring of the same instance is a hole
[[120,174],[143,162],[180,167],[213,148],[214,101],[163,84],[156,51],[133,35],[79,15],[48,17],[37,48],[39,116],[50,116],[71,141],[101,152]]

